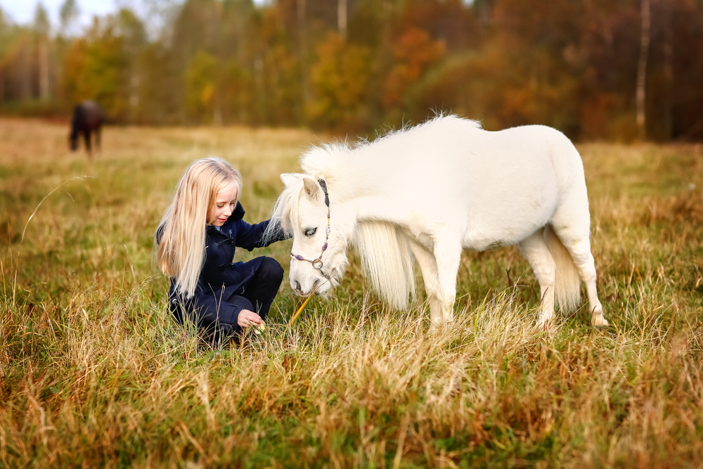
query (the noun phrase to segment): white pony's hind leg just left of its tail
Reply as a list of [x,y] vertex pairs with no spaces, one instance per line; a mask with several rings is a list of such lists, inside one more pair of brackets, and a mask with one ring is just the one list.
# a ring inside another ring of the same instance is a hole
[[544,326],[554,318],[554,285],[556,266],[552,255],[544,242],[544,229],[538,229],[524,240],[517,243],[520,252],[532,266],[534,276],[539,283],[541,303],[539,305],[538,326]]

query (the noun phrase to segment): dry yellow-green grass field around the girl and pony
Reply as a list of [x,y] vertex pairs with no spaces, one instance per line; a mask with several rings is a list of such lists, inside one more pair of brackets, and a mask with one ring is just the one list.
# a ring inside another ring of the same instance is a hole
[[[385,309],[358,262],[263,340],[204,349],[172,322],[152,235],[185,167],[241,170],[250,222],[318,138],[302,130],[67,128],[0,120],[0,467],[703,464],[703,148],[579,146],[611,327],[536,330],[517,248],[466,252],[457,321]],[[290,241],[272,255],[288,267]],[[352,259],[354,259],[352,257]],[[419,275],[419,274],[418,274]],[[420,277],[418,276],[418,282]]]

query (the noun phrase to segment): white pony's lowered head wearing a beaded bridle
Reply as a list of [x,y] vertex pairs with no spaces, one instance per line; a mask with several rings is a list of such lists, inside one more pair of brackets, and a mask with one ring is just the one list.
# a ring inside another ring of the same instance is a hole
[[335,211],[330,208],[325,179],[306,174],[281,174],[285,185],[271,217],[271,225],[293,237],[290,252],[290,288],[301,296],[328,293],[347,266],[347,240]]

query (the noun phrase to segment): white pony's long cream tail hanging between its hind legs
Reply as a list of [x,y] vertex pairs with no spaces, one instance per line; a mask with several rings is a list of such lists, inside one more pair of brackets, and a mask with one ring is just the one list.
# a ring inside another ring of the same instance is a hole
[[562,311],[576,311],[581,302],[581,278],[574,259],[550,225],[544,228],[544,242],[556,265],[555,300]]

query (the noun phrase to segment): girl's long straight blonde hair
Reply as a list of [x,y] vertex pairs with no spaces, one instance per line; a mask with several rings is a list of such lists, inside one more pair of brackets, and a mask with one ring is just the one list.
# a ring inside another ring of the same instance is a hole
[[[176,290],[192,297],[205,264],[205,228],[217,193],[229,185],[242,191],[242,175],[221,158],[196,160],[183,172],[176,194],[154,235],[156,264],[174,278]],[[236,201],[235,201],[236,202]]]

